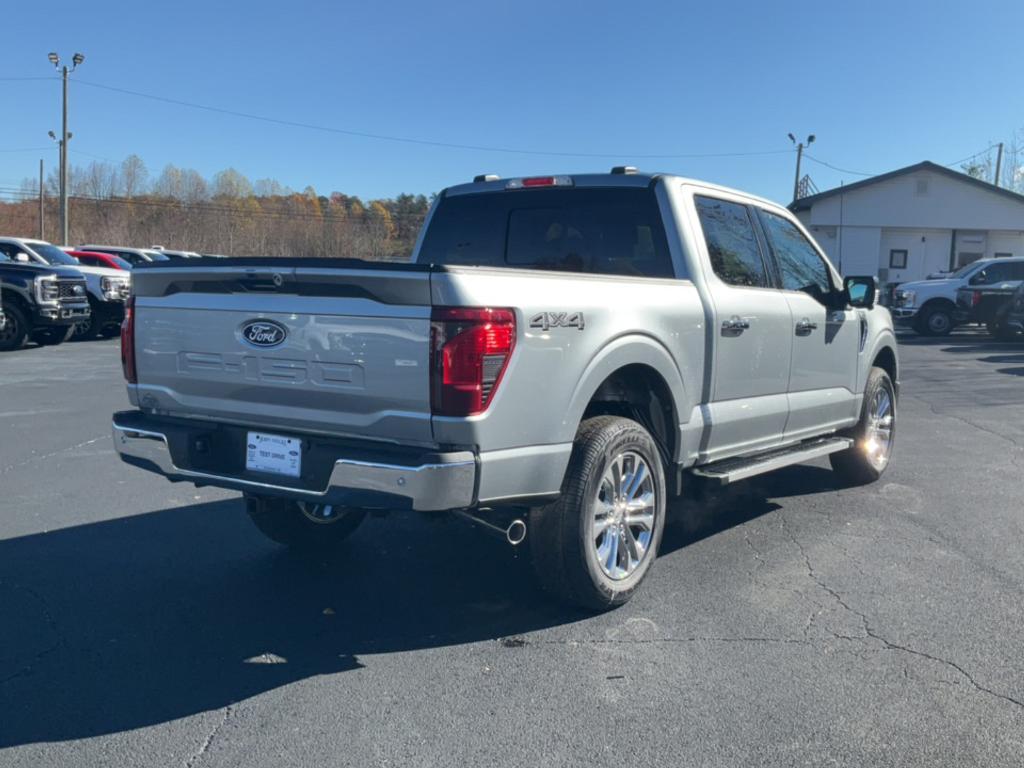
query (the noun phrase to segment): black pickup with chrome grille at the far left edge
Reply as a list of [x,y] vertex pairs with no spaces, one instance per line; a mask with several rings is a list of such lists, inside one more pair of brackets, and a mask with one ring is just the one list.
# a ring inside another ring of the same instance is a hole
[[0,328],[0,351],[17,349],[30,337],[39,344],[59,344],[74,333],[76,323],[89,317],[80,271],[32,264],[27,255],[23,259],[2,249],[0,306],[6,319]]

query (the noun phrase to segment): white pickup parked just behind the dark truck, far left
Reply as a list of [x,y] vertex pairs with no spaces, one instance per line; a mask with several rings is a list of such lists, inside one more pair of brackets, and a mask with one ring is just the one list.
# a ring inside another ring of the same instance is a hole
[[60,248],[43,240],[0,238],[0,244],[19,249],[37,264],[71,267],[85,276],[90,312],[76,324],[77,338],[118,335],[121,321],[124,319],[125,300],[131,290],[131,275],[128,272],[79,263]]

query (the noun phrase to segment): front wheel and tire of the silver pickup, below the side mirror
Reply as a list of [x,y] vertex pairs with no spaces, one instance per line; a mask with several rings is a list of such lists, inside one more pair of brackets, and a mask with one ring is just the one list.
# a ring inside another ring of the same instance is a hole
[[833,470],[850,485],[874,482],[889,466],[896,439],[896,388],[881,368],[867,376],[860,421],[849,436],[853,446],[828,457]]

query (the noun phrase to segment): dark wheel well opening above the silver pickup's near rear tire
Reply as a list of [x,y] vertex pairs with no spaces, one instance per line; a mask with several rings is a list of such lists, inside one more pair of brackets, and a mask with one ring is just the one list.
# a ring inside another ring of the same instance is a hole
[[672,391],[657,371],[638,364],[611,374],[590,398],[583,418],[603,414],[624,416],[642,424],[654,438],[666,469],[672,466],[679,421]]

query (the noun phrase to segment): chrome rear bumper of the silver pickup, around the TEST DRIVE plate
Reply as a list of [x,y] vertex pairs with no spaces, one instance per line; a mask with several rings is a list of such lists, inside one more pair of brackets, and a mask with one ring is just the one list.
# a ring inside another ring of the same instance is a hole
[[117,419],[113,431],[114,447],[122,461],[171,480],[190,480],[200,485],[297,501],[381,509],[407,507],[424,512],[463,509],[474,502],[476,460],[468,451],[434,454],[434,461],[416,466],[339,457],[326,487],[314,490],[281,484],[284,478],[254,479],[177,467],[166,433],[119,424]]

